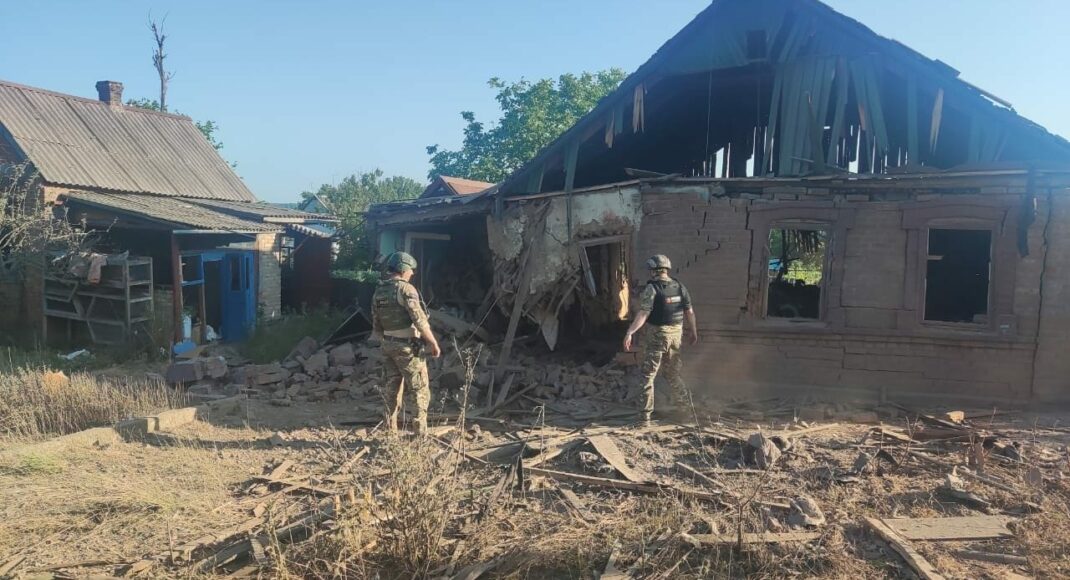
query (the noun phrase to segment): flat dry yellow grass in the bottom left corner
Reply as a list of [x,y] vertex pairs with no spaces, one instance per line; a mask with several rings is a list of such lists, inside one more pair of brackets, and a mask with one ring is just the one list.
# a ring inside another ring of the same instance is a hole
[[24,445],[0,454],[0,562],[19,571],[116,564],[234,524],[234,486],[266,456],[200,438],[100,446]]

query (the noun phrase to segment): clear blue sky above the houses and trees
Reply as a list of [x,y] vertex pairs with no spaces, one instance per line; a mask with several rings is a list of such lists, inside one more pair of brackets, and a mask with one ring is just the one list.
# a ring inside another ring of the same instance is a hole
[[[426,180],[424,148],[496,118],[492,76],[633,71],[707,0],[35,0],[0,3],[0,78],[95,96],[157,93],[153,16],[167,15],[168,102],[221,126],[262,199],[382,168]],[[831,0],[877,33],[962,71],[1070,135],[1070,2]]]

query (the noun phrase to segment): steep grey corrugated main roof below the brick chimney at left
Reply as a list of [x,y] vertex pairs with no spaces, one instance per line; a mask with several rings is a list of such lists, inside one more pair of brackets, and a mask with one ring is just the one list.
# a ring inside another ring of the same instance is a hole
[[0,125],[51,184],[256,201],[188,117],[0,80]]

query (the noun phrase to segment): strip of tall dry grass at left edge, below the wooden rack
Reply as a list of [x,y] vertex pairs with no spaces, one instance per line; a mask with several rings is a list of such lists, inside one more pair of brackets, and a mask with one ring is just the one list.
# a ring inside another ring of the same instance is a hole
[[0,373],[0,438],[70,433],[184,403],[160,382],[18,369]]

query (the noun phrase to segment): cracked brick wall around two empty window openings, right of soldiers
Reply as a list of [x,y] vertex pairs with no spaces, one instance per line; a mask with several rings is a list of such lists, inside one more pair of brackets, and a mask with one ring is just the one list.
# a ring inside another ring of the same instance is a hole
[[[690,289],[701,330],[700,344],[685,353],[686,377],[694,388],[751,395],[785,387],[836,388],[866,398],[952,395],[1022,400],[1033,391],[1043,292],[1036,394],[1042,398],[1070,394],[1070,357],[1064,353],[1070,340],[1066,197],[1056,203],[1046,248],[1048,208],[1045,199],[1039,200],[1037,220],[1028,229],[1030,255],[1024,258],[1018,256],[1013,234],[1024,188],[990,188],[984,195],[951,198],[954,203],[1004,208],[999,211],[1006,211],[1009,225],[997,233],[996,244],[1010,244],[1000,247],[1011,248],[1013,268],[1007,270],[1012,275],[1006,284],[1012,291],[1003,307],[1002,324],[949,331],[922,324],[923,301],[912,295],[912,284],[920,284],[912,276],[919,271],[923,276],[924,266],[919,264],[918,242],[908,240],[903,216],[918,207],[920,196],[903,192],[822,196],[821,203],[851,215],[850,227],[831,242],[842,244],[830,264],[835,275],[826,272],[826,280],[839,280],[836,288],[825,289],[836,299],[826,311],[839,310],[842,318],[814,324],[765,320],[755,307],[762,303],[754,300],[765,284],[762,266],[756,266],[761,275],[754,275],[753,264],[760,261],[752,255],[761,244],[752,242],[765,233],[753,229],[755,211],[770,203],[801,207],[805,199],[759,192],[708,201],[669,190],[647,190],[643,197],[635,271],[643,272],[646,257],[667,254],[675,275]],[[995,286],[993,278],[993,291]]]

